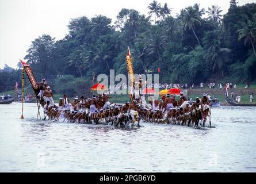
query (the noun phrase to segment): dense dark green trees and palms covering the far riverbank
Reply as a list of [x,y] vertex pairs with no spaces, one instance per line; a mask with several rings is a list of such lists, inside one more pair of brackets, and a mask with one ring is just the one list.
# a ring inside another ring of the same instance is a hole
[[[74,18],[62,40],[43,34],[32,41],[25,59],[38,80],[47,78],[56,93],[70,95],[87,94],[94,74],[109,75],[109,69],[127,74],[127,46],[135,73],[158,74],[161,68],[160,82],[256,80],[255,3],[238,6],[231,0],[223,16],[219,6],[210,5],[205,12],[199,4],[184,7],[177,18],[170,16],[166,3],[153,1],[148,10],[149,17],[121,9],[114,25],[102,15]],[[204,13],[208,18],[202,17]],[[20,70],[4,70],[0,91],[12,90],[14,82],[21,81]]]

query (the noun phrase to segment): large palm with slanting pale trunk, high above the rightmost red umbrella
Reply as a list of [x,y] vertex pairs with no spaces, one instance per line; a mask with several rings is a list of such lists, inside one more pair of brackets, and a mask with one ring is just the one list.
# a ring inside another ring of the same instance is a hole
[[198,14],[198,11],[196,9],[194,9],[192,6],[187,7],[185,9],[183,22],[184,22],[184,30],[192,29],[194,36],[196,37],[197,42],[201,47],[201,44],[196,35],[196,32],[194,32],[194,29],[196,29],[196,24],[201,25],[200,16]]

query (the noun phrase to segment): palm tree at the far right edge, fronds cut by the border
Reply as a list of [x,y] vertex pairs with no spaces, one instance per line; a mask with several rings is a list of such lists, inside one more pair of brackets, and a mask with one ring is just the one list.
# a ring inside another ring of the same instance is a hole
[[244,28],[238,30],[239,36],[238,40],[241,40],[244,38],[244,45],[249,43],[251,47],[253,47],[254,56],[256,57],[254,44],[256,41],[256,25],[255,22],[247,21],[247,24],[244,24]]

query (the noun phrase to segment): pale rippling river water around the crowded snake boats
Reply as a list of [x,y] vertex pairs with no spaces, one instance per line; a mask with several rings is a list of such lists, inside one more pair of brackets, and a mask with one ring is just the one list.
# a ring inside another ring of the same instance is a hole
[[1,172],[256,172],[256,108],[212,108],[215,128],[139,129],[36,120],[0,105]]

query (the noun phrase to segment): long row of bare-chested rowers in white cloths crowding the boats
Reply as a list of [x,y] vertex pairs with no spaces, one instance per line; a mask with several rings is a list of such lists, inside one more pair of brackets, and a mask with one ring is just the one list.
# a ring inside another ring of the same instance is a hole
[[[49,88],[47,90],[48,92],[43,94],[48,94]],[[45,118],[48,116],[50,120],[62,118],[69,122],[109,124],[116,127],[126,127],[128,124],[140,127],[141,121],[198,127],[200,120],[203,122],[202,126],[205,126],[207,116],[211,115],[211,100],[207,94],[203,94],[202,98],[197,97],[192,105],[182,92],[178,101],[175,101],[171,94],[166,94],[159,101],[151,99],[150,105],[143,103],[141,98],[127,101],[125,104],[110,104],[109,98],[108,94],[103,93],[91,98],[75,97],[71,102],[64,94],[56,106],[47,97],[44,98]]]

